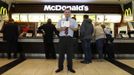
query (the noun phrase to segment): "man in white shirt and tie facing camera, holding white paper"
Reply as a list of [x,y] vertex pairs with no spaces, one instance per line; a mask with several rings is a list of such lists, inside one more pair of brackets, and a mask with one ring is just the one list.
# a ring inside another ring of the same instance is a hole
[[67,68],[70,72],[75,73],[73,70],[72,56],[73,56],[73,33],[77,30],[77,22],[70,17],[70,9],[65,9],[65,18],[61,19],[57,24],[57,30],[60,32],[60,49],[59,49],[59,60],[58,69],[56,73],[63,70],[63,62],[65,59],[65,53],[67,54]]

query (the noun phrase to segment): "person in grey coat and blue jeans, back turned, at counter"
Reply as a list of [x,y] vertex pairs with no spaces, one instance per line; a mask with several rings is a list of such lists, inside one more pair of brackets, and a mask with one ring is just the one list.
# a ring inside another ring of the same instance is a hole
[[94,31],[92,20],[89,19],[88,15],[83,16],[84,20],[80,27],[80,39],[82,42],[82,49],[84,52],[84,60],[81,63],[89,64],[91,63],[92,53],[91,53],[91,39]]

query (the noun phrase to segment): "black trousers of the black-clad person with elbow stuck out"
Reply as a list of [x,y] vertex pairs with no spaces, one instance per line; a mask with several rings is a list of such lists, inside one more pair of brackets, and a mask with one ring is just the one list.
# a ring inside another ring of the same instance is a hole
[[53,39],[51,40],[44,40],[44,47],[45,47],[45,55],[46,58],[56,58],[56,52],[55,52],[55,48],[54,48],[54,43],[53,43]]

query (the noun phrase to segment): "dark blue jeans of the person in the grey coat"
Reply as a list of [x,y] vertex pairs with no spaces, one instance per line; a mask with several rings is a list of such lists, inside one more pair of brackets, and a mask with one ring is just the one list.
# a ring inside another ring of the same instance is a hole
[[91,40],[90,39],[82,40],[82,49],[85,54],[84,61],[91,61],[92,53],[91,53]]

